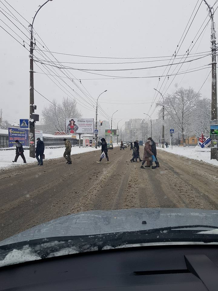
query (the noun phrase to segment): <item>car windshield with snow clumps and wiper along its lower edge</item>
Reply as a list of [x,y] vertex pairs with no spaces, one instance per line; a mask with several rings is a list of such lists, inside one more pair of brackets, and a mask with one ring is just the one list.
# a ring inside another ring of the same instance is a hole
[[218,2],[21,2],[0,1],[0,261],[216,243]]

